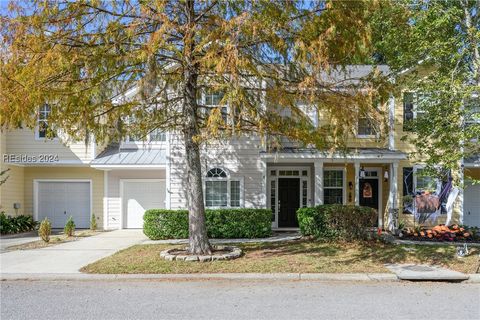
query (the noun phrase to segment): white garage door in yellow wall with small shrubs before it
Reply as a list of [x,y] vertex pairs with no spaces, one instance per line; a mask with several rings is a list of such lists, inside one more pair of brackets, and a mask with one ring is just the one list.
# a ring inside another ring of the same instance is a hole
[[90,182],[39,181],[37,219],[47,217],[52,228],[63,228],[72,216],[79,229],[90,226]]

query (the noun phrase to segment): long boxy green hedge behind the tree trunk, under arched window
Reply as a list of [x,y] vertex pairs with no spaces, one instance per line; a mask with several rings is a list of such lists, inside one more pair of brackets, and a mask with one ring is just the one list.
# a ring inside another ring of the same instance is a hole
[[[207,209],[210,238],[262,238],[272,234],[267,209]],[[143,216],[143,233],[152,240],[188,238],[188,211],[151,209]]]

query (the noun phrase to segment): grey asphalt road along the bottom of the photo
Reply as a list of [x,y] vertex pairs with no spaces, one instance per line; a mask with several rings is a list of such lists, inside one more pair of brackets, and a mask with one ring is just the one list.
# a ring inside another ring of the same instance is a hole
[[480,319],[480,285],[2,281],[7,319]]

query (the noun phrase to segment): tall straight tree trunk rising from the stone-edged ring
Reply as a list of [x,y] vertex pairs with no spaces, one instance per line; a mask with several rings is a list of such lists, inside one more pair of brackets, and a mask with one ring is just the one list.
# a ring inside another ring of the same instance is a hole
[[188,220],[189,220],[189,252],[194,254],[211,254],[212,249],[208,241],[205,226],[205,206],[203,203],[202,168],[200,162],[200,144],[198,142],[198,115],[197,115],[197,81],[198,64],[194,61],[194,7],[193,1],[187,1],[186,13],[188,16],[189,32],[185,35],[185,65],[184,81],[184,142],[187,162],[187,189],[188,189]]

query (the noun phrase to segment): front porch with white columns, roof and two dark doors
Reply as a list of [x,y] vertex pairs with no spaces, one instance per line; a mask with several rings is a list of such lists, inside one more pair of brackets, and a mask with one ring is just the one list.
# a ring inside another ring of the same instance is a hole
[[378,212],[375,227],[394,228],[399,207],[398,165],[405,154],[385,149],[349,154],[295,149],[265,153],[262,158],[272,228],[298,228],[298,208],[321,204],[372,207]]

